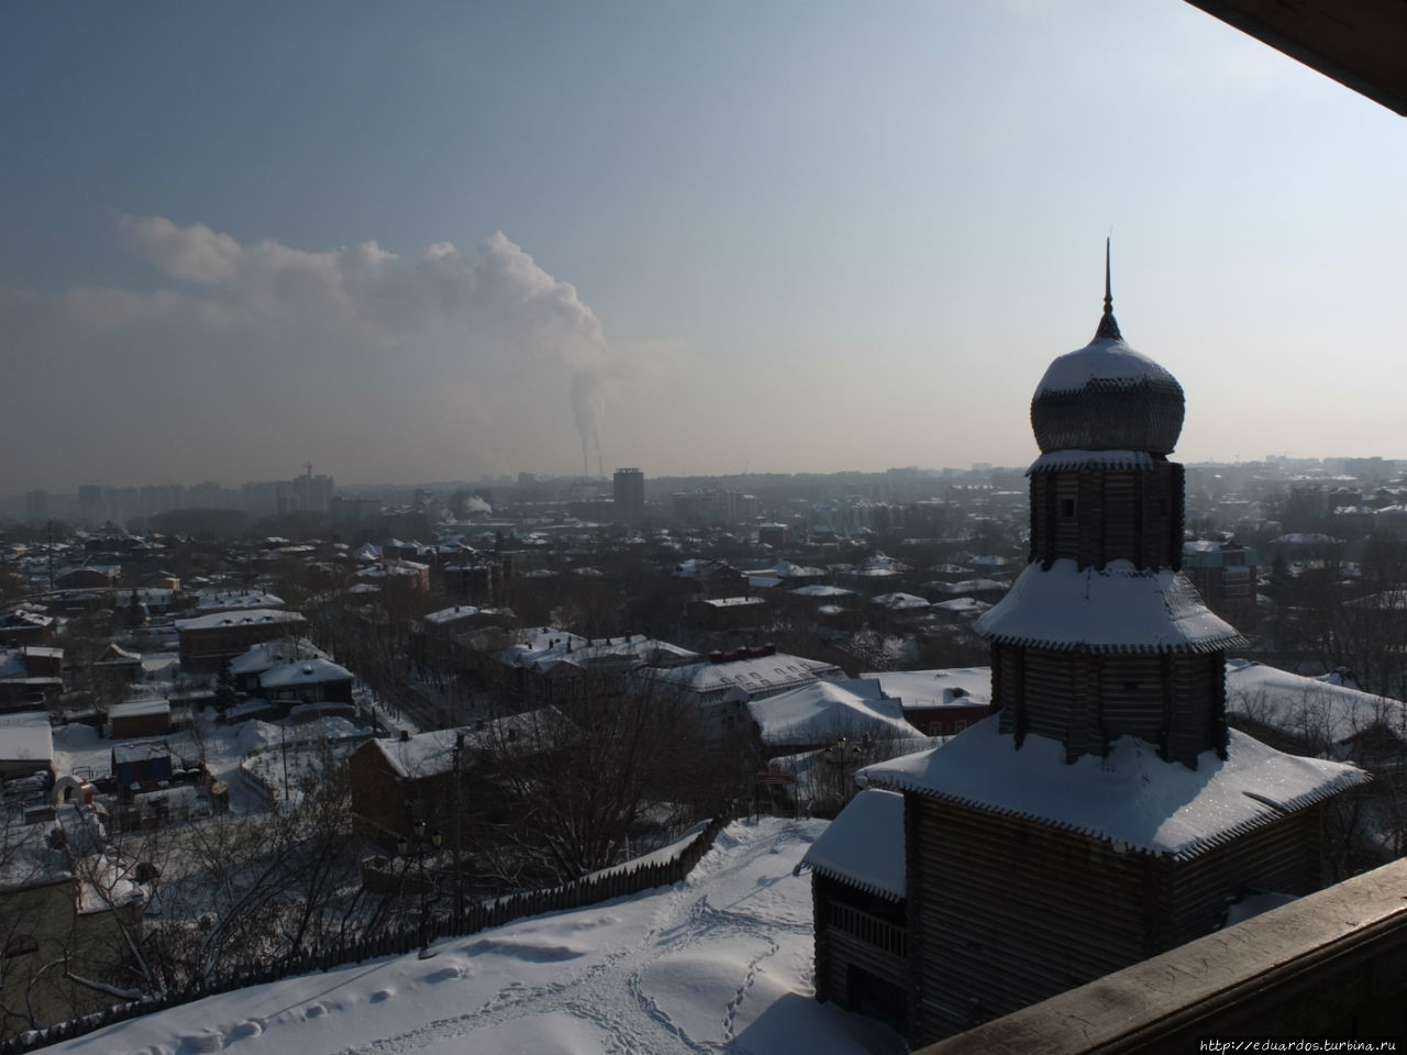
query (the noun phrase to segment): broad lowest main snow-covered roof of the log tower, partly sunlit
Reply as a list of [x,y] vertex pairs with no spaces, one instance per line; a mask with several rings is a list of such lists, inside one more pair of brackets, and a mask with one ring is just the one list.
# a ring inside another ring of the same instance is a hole
[[993,715],[940,748],[865,767],[857,779],[1188,858],[1369,778],[1237,730],[1225,761],[1203,751],[1196,769],[1165,762],[1134,736],[1119,737],[1103,758],[1067,764],[1065,746],[1050,737],[1029,734],[1017,751]]

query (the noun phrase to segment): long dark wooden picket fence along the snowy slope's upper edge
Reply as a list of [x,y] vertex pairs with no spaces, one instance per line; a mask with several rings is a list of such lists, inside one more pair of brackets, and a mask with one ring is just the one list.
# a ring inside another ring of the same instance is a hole
[[[656,886],[670,886],[682,881],[694,869],[699,858],[713,845],[713,840],[726,823],[727,817],[715,817],[684,850],[668,861],[625,865],[594,876],[575,879],[561,886],[552,886],[542,890],[522,890],[494,902],[476,903],[469,906],[463,914],[446,913],[432,916],[425,921],[425,935],[429,941],[464,937],[491,927],[501,927],[528,916],[540,916],[542,913],[561,912],[564,909],[580,909],[585,904],[636,895]],[[42,1030],[30,1030],[17,1034],[0,1041],[0,1055],[23,1055],[23,1052],[35,1051],[37,1048],[72,1040],[73,1037],[82,1037],[114,1023],[136,1018],[217,993],[277,982],[283,978],[305,975],[312,971],[349,966],[366,959],[377,959],[378,957],[402,955],[419,948],[419,945],[421,928],[416,924],[401,931],[363,937],[321,950],[307,950],[298,955],[286,957],[276,964],[253,959],[245,961],[231,971],[221,972],[210,979],[197,979],[182,989],[167,990],[141,1000],[111,1004],[101,1011],[55,1023]]]

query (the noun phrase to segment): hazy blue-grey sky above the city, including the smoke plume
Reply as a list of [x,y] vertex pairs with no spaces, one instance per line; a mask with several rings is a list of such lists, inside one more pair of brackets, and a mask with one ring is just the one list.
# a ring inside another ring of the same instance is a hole
[[1407,124],[1179,0],[0,6],[0,494],[1407,457]]

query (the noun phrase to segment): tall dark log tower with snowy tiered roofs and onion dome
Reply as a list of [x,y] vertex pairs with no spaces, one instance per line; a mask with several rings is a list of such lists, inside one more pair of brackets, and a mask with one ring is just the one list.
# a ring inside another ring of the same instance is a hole
[[862,769],[806,855],[817,997],[916,1045],[1318,889],[1323,805],[1366,779],[1227,730],[1241,639],[1179,571],[1182,387],[1124,343],[1104,266],[1093,340],[1031,399],[1030,563],[978,620],[995,713]]

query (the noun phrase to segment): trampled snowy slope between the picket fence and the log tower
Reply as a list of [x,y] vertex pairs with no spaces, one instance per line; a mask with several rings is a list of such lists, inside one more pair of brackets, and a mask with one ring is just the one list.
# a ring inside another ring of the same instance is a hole
[[689,878],[415,954],[241,989],[48,1051],[83,1055],[747,1052],[889,1055],[886,1027],[812,989],[822,820],[725,829]]

